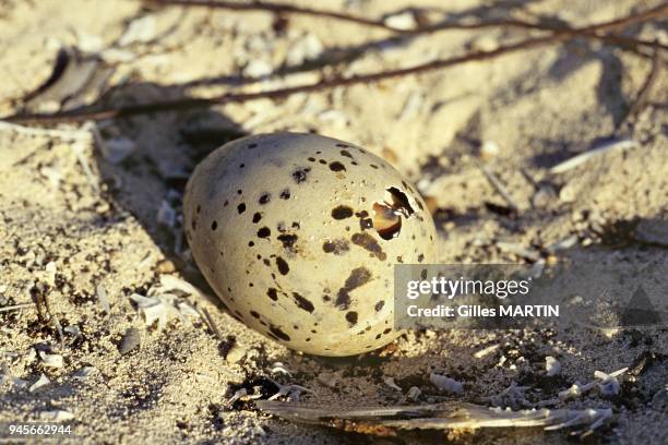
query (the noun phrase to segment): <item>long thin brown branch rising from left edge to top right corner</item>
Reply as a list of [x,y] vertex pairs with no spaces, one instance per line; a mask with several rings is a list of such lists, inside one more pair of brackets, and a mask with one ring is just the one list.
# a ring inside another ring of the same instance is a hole
[[[440,70],[453,65],[458,65],[467,62],[489,60],[500,56],[509,55],[520,50],[537,48],[540,46],[557,44],[563,40],[569,40],[577,37],[583,31],[588,33],[597,33],[606,31],[610,27],[621,27],[627,24],[637,23],[644,20],[655,19],[658,14],[657,8],[645,12],[640,12],[634,15],[629,15],[623,19],[618,19],[611,22],[604,22],[595,25],[589,25],[581,28],[568,28],[556,32],[548,36],[529,38],[516,44],[501,46],[491,51],[474,51],[463,56],[457,56],[449,59],[438,59],[415,67],[381,71],[370,74],[357,74],[348,77],[338,77],[330,81],[315,82],[306,85],[291,86],[286,88],[277,88],[259,93],[228,93],[212,98],[187,98],[177,100],[156,101],[150,104],[131,105],[118,108],[107,108],[102,110],[79,109],[51,115],[15,115],[4,118],[9,122],[15,123],[59,123],[59,122],[83,122],[87,120],[104,120],[127,118],[136,115],[151,112],[163,112],[172,110],[184,110],[193,108],[206,108],[213,105],[247,103],[260,98],[277,99],[290,96],[297,93],[311,93],[321,89],[329,89],[339,86],[349,86],[358,84],[378,83],[383,80],[401,77],[409,74],[425,73],[429,71]],[[668,11],[668,4],[660,9],[661,14]]]

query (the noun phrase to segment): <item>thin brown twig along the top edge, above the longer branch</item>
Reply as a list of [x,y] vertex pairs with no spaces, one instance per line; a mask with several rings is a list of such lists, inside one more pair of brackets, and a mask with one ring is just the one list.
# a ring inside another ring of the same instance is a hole
[[[335,12],[329,10],[317,10],[311,8],[301,8],[295,7],[293,4],[286,3],[264,3],[264,2],[251,2],[251,3],[238,3],[230,1],[212,1],[212,0],[146,0],[148,3],[155,3],[159,5],[178,5],[178,7],[194,7],[194,8],[208,8],[208,9],[224,9],[224,10],[232,10],[232,11],[264,11],[272,12],[278,14],[300,14],[300,15],[310,15],[315,17],[326,17],[326,19],[335,19],[342,22],[355,23],[358,25],[371,26],[384,31],[389,31],[395,34],[403,35],[420,35],[420,34],[433,34],[441,31],[450,31],[450,29],[482,29],[489,27],[520,27],[520,28],[528,28],[544,32],[563,32],[563,31],[573,31],[573,28],[569,26],[560,26],[560,25],[548,25],[548,24],[538,24],[524,22],[521,20],[494,20],[490,22],[478,22],[478,23],[453,23],[449,21],[443,21],[440,23],[436,23],[433,25],[420,26],[414,29],[403,29],[387,25],[383,21],[377,21],[371,19],[366,19],[359,15]],[[660,17],[668,12],[668,3],[658,5],[652,10],[646,11],[648,14],[646,19],[642,19],[640,21],[652,20],[656,17]],[[634,21],[627,22],[624,19],[619,19],[612,22],[609,22],[609,29],[616,29],[622,26],[628,26]],[[598,40],[604,40],[613,44],[623,44],[631,48],[637,47],[652,47],[657,49],[668,50],[668,46],[661,45],[657,41],[648,41],[636,39],[633,37],[618,36],[618,35],[601,35],[596,33],[596,31],[605,31],[601,28],[597,29],[587,29],[581,28],[577,34],[582,35],[585,38],[593,38]]]

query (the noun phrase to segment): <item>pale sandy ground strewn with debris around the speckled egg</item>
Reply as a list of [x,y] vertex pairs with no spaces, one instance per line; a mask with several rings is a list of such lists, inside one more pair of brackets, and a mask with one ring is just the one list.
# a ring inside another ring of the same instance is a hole
[[[318,5],[347,5],[380,17],[415,3],[446,8],[455,19],[544,15],[574,24],[656,4],[455,0],[445,7],[436,0],[327,0]],[[653,24],[630,31],[646,39],[666,38]],[[114,85],[105,100],[130,104],[206,97],[235,88],[244,76],[267,75],[243,87],[250,92],[405,67],[524,35],[517,29],[454,31],[387,40],[382,31],[303,16],[290,16],[281,27],[264,13],[151,10],[136,1],[1,0],[0,115],[16,110],[21,98],[49,77],[63,46],[104,55]],[[116,50],[107,50],[112,46]],[[345,55],[345,62],[332,63],[337,55]],[[370,354],[322,359],[278,346],[237,322],[214,299],[189,289],[176,292],[175,304],[186,305],[168,312],[162,329],[146,326],[130,299],[151,288],[160,294],[156,284],[165,276],[210,292],[179,234],[184,179],[222,143],[276,130],[350,141],[393,163],[436,208],[442,263],[525,263],[499,249],[499,241],[541,252],[573,236],[577,242],[552,260],[611,267],[665,261],[665,233],[655,245],[629,241],[624,233],[599,236],[618,221],[660,225],[668,219],[665,71],[649,106],[617,130],[648,70],[649,62],[632,53],[576,40],[374,86],[100,122],[102,137],[110,142],[106,151],[75,127],[61,127],[56,134],[0,129],[0,309],[46,298],[52,315],[40,322],[34,305],[0,312],[0,422],[67,411],[76,443],[372,443],[371,437],[274,419],[252,402],[230,407],[226,400],[253,386],[269,397],[276,392],[270,377],[310,388],[303,402],[337,408],[397,405],[411,386],[422,392],[418,402],[442,397],[493,405],[489,397],[511,385],[527,388],[522,397],[492,400],[523,408],[575,382],[593,381],[595,371],[630,366],[637,375],[625,380],[617,395],[593,392],[556,408],[611,408],[613,420],[597,430],[589,438],[594,442],[668,443],[668,417],[657,402],[668,384],[665,328],[427,330],[406,334]],[[95,97],[93,92],[82,100]],[[52,110],[52,104],[32,107]],[[549,173],[557,163],[615,135],[639,146]],[[129,147],[123,159],[114,157],[119,145]],[[517,215],[503,211],[506,203],[476,166],[477,158],[505,184]],[[208,312],[218,336],[188,308]],[[494,345],[488,354],[474,356]],[[44,353],[64,361],[48,366]],[[547,356],[561,362],[558,376],[546,377]],[[272,372],[275,362],[291,376]],[[429,382],[431,372],[456,378],[465,390],[440,394]],[[43,374],[49,383],[32,390]],[[402,392],[387,386],[386,377]],[[396,443],[442,438],[440,433],[413,433]],[[449,438],[561,443],[569,436],[526,429]]]

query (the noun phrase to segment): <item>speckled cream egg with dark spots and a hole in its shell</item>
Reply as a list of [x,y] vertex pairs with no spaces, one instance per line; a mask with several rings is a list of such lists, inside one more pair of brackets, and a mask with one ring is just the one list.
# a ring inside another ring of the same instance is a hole
[[217,148],[192,173],[183,212],[192,256],[229,311],[312,354],[394,340],[394,265],[436,260],[415,188],[366,149],[314,134]]

